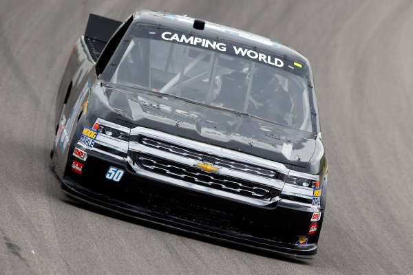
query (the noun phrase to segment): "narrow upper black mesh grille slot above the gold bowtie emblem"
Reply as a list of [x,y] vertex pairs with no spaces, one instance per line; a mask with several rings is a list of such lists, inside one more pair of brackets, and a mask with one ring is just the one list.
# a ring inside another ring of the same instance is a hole
[[207,155],[204,153],[200,153],[195,150],[191,150],[189,148],[184,148],[182,146],[177,146],[175,144],[170,144],[168,142],[162,142],[160,140],[154,140],[150,137],[141,136],[139,139],[139,143],[145,146],[149,146],[151,148],[156,148],[161,151],[165,151],[168,153],[173,153],[176,155],[180,155],[182,157],[189,157],[191,159],[196,159],[200,162],[212,162],[213,164],[225,168],[229,168],[232,170],[237,170],[242,173],[248,173],[251,175],[257,175],[260,177],[266,177],[269,179],[278,179],[279,173],[274,170],[268,170],[265,168],[260,168],[257,166],[252,166],[248,164],[242,164],[240,162],[233,162],[231,159],[224,159],[221,157],[216,157],[213,155]]

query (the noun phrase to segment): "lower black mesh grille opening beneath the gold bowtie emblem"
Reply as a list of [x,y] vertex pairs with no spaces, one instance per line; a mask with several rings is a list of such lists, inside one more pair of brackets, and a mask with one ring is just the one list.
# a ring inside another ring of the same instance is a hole
[[231,179],[218,173],[204,172],[193,166],[184,166],[151,155],[136,154],[135,162],[140,168],[151,170],[153,173],[254,199],[271,199],[277,191],[269,186],[241,179]]

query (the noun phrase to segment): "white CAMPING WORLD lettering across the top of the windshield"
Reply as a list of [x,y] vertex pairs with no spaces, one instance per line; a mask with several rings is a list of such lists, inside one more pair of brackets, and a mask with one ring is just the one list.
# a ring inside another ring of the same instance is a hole
[[[209,39],[201,39],[195,36],[186,36],[185,34],[173,34],[172,32],[163,32],[161,34],[162,39],[166,41],[176,41],[178,43],[185,43],[191,45],[198,45],[200,47],[206,47],[213,50],[218,50],[220,52],[227,52],[228,47],[225,43],[218,43],[218,41],[211,41]],[[248,57],[250,59],[257,59],[260,62],[274,65],[276,67],[284,67],[284,62],[268,54],[258,53],[255,50],[244,49],[242,47],[237,47],[233,45],[231,51],[238,56]],[[298,63],[297,63],[298,64]],[[301,65],[301,64],[300,64]],[[297,67],[300,67],[296,65]],[[302,67],[302,66],[301,66]]]

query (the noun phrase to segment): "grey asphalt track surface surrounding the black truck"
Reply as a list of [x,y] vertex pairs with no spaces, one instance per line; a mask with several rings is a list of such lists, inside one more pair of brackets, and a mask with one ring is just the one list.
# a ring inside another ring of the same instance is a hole
[[[313,66],[330,173],[313,261],[133,223],[63,195],[54,102],[89,12],[187,13]],[[413,274],[413,1],[0,1],[0,274]]]

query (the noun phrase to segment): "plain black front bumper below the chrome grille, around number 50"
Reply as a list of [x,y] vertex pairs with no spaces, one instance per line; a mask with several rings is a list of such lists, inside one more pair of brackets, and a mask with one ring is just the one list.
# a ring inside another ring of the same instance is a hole
[[[110,166],[125,170],[120,182],[105,179]],[[94,151],[88,153],[81,175],[66,171],[63,192],[107,210],[299,258],[313,259],[317,253],[318,234],[308,235],[313,208],[282,199],[257,206],[143,179],[125,159]],[[299,236],[308,236],[307,245],[296,245]]]

